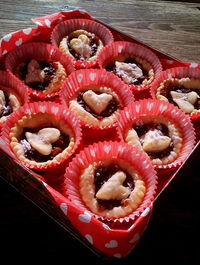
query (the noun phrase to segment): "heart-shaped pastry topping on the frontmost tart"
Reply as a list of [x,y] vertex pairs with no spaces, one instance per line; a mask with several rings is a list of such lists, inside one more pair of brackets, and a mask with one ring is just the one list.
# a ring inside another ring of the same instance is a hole
[[122,184],[126,179],[126,174],[122,171],[116,172],[105,182],[96,193],[96,197],[101,200],[122,200],[126,199],[131,190]]

